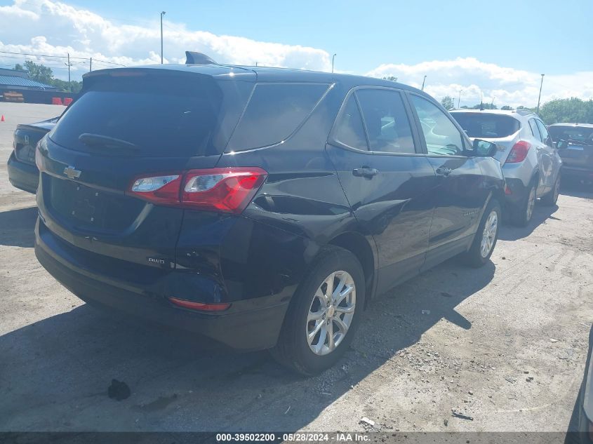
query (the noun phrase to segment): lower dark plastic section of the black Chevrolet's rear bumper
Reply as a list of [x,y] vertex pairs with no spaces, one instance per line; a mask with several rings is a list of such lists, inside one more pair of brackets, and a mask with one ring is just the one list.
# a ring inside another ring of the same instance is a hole
[[[88,271],[60,254],[59,242],[51,232],[39,235],[35,227],[35,255],[41,265],[62,285],[85,302],[124,311],[173,328],[196,332],[234,349],[258,350],[274,347],[277,342],[288,301],[274,297],[233,302],[220,314],[202,314],[173,306],[166,295],[155,294],[154,285],[142,288],[138,283],[114,285],[112,279],[89,276]],[[50,236],[50,237],[48,237]],[[48,245],[49,244],[49,245]],[[174,273],[174,272],[173,272]],[[171,279],[171,276],[169,276]]]

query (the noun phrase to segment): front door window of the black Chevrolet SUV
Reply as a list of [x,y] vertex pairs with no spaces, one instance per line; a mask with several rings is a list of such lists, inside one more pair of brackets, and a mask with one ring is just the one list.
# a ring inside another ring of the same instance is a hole
[[463,140],[451,119],[428,100],[418,95],[411,95],[411,99],[420,119],[428,154],[461,156]]

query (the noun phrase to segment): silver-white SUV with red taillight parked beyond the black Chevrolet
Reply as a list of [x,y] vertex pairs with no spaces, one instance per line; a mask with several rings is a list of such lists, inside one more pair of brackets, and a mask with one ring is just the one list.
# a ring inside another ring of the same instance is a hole
[[451,116],[472,140],[498,145],[494,157],[505,173],[505,203],[511,222],[526,226],[538,197],[547,205],[556,204],[562,160],[537,114],[522,109],[458,109]]

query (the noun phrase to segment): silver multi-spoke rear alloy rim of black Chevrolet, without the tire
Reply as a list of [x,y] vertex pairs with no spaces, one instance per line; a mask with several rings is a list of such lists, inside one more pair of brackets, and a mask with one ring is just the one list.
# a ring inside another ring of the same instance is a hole
[[314,354],[330,354],[340,345],[354,318],[357,289],[347,271],[334,271],[313,296],[305,334]]

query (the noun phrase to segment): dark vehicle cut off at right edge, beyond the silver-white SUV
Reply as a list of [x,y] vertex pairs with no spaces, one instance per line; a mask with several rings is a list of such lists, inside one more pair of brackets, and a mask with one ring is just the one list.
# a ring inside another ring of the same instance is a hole
[[593,181],[593,125],[591,123],[554,123],[548,126],[554,142],[567,142],[560,150],[566,177]]

